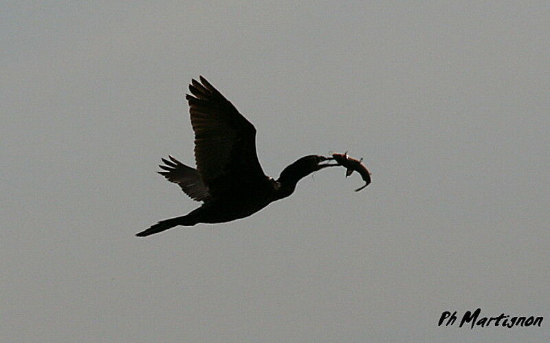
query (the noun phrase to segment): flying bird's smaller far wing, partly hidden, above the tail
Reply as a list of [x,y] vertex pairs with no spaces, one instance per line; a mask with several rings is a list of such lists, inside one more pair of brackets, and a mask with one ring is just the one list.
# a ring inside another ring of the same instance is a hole
[[197,169],[186,166],[172,156],[168,157],[170,157],[170,161],[168,161],[168,159],[162,159],[162,162],[164,162],[166,166],[162,164],[159,165],[160,168],[166,171],[159,171],[158,173],[166,177],[168,181],[178,184],[181,190],[191,199],[196,201],[208,201],[210,199],[208,187],[203,183]]

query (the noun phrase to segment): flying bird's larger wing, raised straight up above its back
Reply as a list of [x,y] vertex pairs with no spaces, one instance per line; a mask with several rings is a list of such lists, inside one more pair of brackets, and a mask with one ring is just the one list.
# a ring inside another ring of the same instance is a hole
[[195,162],[210,195],[228,195],[266,177],[256,154],[256,129],[202,76],[187,95],[195,131]]

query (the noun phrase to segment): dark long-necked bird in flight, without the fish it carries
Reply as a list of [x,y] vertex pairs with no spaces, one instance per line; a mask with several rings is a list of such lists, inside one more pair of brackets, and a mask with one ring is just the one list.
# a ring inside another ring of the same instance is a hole
[[287,166],[278,180],[267,177],[256,155],[256,129],[205,78],[192,80],[186,95],[195,131],[197,169],[169,156],[159,174],[178,184],[202,206],[185,216],[159,221],[136,236],[149,236],[177,225],[223,223],[248,217],[294,192],[303,177],[339,164],[320,164],[333,159],[308,155]]

